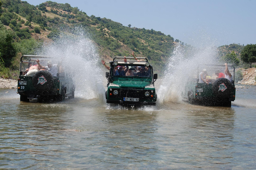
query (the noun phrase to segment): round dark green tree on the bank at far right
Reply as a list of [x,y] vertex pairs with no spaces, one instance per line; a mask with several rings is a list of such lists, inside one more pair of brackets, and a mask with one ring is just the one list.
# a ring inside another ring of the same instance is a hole
[[241,51],[241,60],[250,64],[250,68],[252,67],[252,63],[256,62],[256,44],[245,45]]

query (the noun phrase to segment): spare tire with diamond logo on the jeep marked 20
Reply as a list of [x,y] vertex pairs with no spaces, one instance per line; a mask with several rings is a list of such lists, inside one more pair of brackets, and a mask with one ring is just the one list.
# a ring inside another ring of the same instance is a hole
[[53,86],[52,74],[48,71],[38,71],[33,76],[32,83],[37,90],[50,91]]

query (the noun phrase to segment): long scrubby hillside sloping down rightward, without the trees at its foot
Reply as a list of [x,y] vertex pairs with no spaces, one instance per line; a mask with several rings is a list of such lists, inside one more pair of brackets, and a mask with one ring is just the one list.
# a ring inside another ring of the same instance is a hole
[[[0,21],[15,33],[15,42],[31,38],[55,41],[62,32],[74,34],[74,28],[82,27],[91,35],[102,58],[110,60],[114,56],[129,56],[134,51],[138,57],[147,57],[157,65],[156,68],[163,66],[175,43],[179,42],[160,31],[132,28],[111,19],[88,16],[68,3],[46,1],[33,6],[20,0],[1,2]],[[24,51],[21,54],[25,54]]]

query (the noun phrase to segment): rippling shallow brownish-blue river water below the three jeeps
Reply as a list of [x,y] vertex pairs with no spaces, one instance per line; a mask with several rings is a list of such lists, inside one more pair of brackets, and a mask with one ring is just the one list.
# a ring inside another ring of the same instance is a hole
[[231,108],[122,108],[75,96],[20,102],[0,89],[0,169],[255,169],[256,87]]

